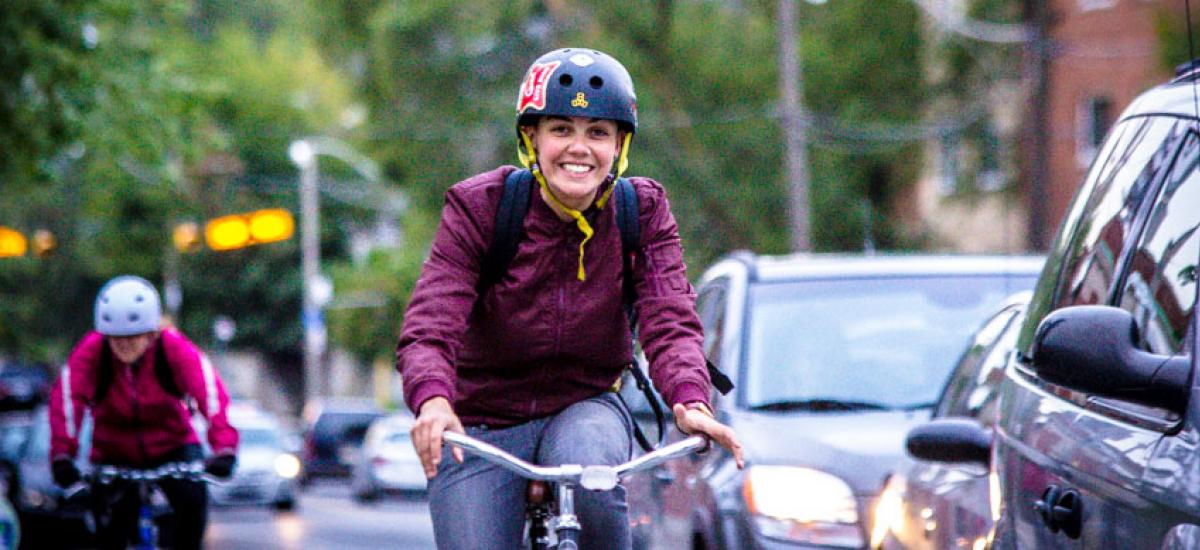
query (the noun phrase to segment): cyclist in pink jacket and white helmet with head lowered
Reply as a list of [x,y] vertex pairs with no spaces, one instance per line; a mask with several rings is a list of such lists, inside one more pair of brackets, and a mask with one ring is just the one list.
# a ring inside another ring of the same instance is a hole
[[[174,329],[160,329],[161,317],[158,293],[144,279],[119,276],[101,288],[95,330],[71,352],[50,393],[50,467],[60,486],[80,480],[74,459],[89,409],[92,464],[152,468],[203,459],[191,423],[194,408],[209,423],[212,454],[205,471],[218,478],[233,473],[238,431],[226,417],[224,384],[194,343]],[[166,530],[175,548],[200,548],[208,520],[204,483],[169,479],[161,486],[175,512]],[[106,495],[95,489],[101,546],[125,548],[125,537],[136,532],[137,491]]]

